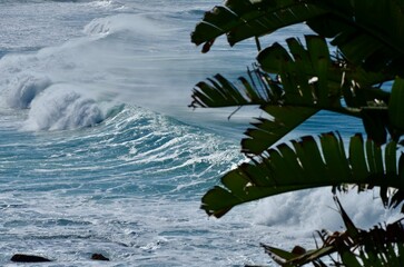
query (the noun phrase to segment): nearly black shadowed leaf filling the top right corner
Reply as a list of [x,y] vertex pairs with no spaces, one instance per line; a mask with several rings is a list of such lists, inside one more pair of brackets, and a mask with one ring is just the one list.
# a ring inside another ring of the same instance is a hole
[[333,38],[332,44],[349,62],[367,70],[403,73],[404,1],[333,0],[318,2],[318,7],[333,11],[307,24]]

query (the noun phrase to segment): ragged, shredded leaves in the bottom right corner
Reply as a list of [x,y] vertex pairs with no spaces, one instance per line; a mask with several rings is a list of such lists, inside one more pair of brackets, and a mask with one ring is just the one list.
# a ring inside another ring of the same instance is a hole
[[[385,227],[375,226],[369,230],[363,230],[353,224],[337,199],[336,202],[347,230],[342,233],[318,231],[319,238],[323,240],[319,248],[305,250],[299,247],[302,253],[295,254],[263,244],[262,247],[284,267],[304,266],[309,263],[314,266],[326,266],[321,260],[325,256],[329,257],[335,266],[388,267],[404,265],[402,257],[404,249],[403,219]],[[334,254],[338,254],[341,259],[333,259]]]

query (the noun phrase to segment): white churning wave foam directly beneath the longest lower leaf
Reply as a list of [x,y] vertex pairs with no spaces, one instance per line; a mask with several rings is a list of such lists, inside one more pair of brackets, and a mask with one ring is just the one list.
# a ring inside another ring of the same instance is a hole
[[[354,224],[367,229],[391,221],[397,210],[388,210],[375,191],[338,194],[343,208]],[[331,188],[295,191],[262,200],[256,207],[256,221],[268,226],[293,227],[307,234],[315,230],[342,230],[344,222],[333,200]]]

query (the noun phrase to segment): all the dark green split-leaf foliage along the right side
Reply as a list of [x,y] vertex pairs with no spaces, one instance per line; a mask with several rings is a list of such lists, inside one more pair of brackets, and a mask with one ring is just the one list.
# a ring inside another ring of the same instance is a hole
[[[211,49],[226,36],[230,46],[296,23],[314,33],[258,47],[248,78],[234,83],[221,75],[197,83],[191,107],[256,105],[255,118],[242,140],[250,158],[210,189],[201,208],[221,217],[233,207],[277,194],[331,187],[333,192],[380,188],[385,207],[404,200],[404,0],[227,0],[206,12],[191,41]],[[366,138],[353,132],[345,147],[327,132],[273,147],[319,110],[362,119]],[[264,246],[284,266],[313,263],[337,253],[342,266],[403,266],[402,221],[368,231],[356,228],[339,202],[347,230],[319,233],[324,246],[284,251]],[[402,208],[404,210],[404,208]],[[356,250],[355,250],[356,248]],[[286,263],[286,264],[285,264]]]

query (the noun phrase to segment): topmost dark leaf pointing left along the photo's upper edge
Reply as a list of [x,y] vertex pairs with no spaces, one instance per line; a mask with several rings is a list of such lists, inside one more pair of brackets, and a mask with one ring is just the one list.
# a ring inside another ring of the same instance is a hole
[[211,46],[217,37],[227,34],[228,42],[233,46],[247,38],[267,34],[326,12],[311,1],[227,0],[224,6],[217,6],[205,13],[203,21],[191,33],[191,41]]

